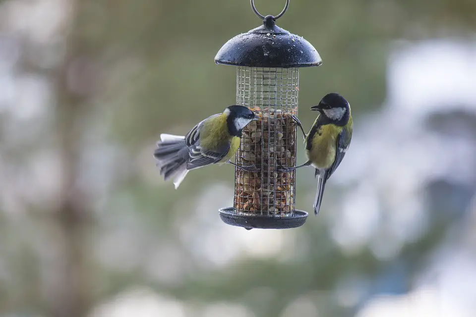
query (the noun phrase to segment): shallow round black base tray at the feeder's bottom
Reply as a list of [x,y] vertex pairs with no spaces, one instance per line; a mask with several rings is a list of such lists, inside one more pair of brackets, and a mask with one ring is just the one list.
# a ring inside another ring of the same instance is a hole
[[228,207],[219,210],[220,218],[226,224],[243,227],[246,230],[255,229],[290,229],[297,228],[306,222],[308,213],[305,211],[294,211],[294,217],[273,217],[261,215],[240,215],[235,213],[235,208]]

